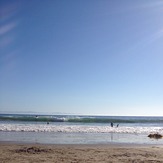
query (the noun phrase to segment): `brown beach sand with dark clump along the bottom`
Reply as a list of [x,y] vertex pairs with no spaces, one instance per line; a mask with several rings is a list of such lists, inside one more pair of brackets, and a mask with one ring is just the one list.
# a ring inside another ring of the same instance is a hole
[[160,163],[163,146],[0,143],[1,163]]

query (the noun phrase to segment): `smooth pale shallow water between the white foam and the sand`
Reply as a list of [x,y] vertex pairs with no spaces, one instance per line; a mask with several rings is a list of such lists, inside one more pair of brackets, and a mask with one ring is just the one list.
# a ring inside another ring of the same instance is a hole
[[163,144],[163,139],[150,139],[146,134],[0,132],[0,141],[43,144]]

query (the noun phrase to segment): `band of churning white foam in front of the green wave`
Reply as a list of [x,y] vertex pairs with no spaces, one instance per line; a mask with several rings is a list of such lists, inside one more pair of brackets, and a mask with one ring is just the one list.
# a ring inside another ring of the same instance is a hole
[[162,127],[110,127],[91,125],[0,124],[0,131],[65,132],[65,133],[160,133]]

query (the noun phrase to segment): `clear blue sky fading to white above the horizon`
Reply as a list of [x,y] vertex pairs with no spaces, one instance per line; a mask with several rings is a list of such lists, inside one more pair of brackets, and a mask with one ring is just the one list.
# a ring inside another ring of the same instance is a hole
[[0,112],[163,116],[163,1],[1,0]]

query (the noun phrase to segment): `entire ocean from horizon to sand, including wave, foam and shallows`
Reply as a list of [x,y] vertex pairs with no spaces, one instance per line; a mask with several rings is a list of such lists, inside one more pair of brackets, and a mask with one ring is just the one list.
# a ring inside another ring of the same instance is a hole
[[163,135],[163,117],[0,114],[0,141],[7,142],[163,144],[151,133]]

